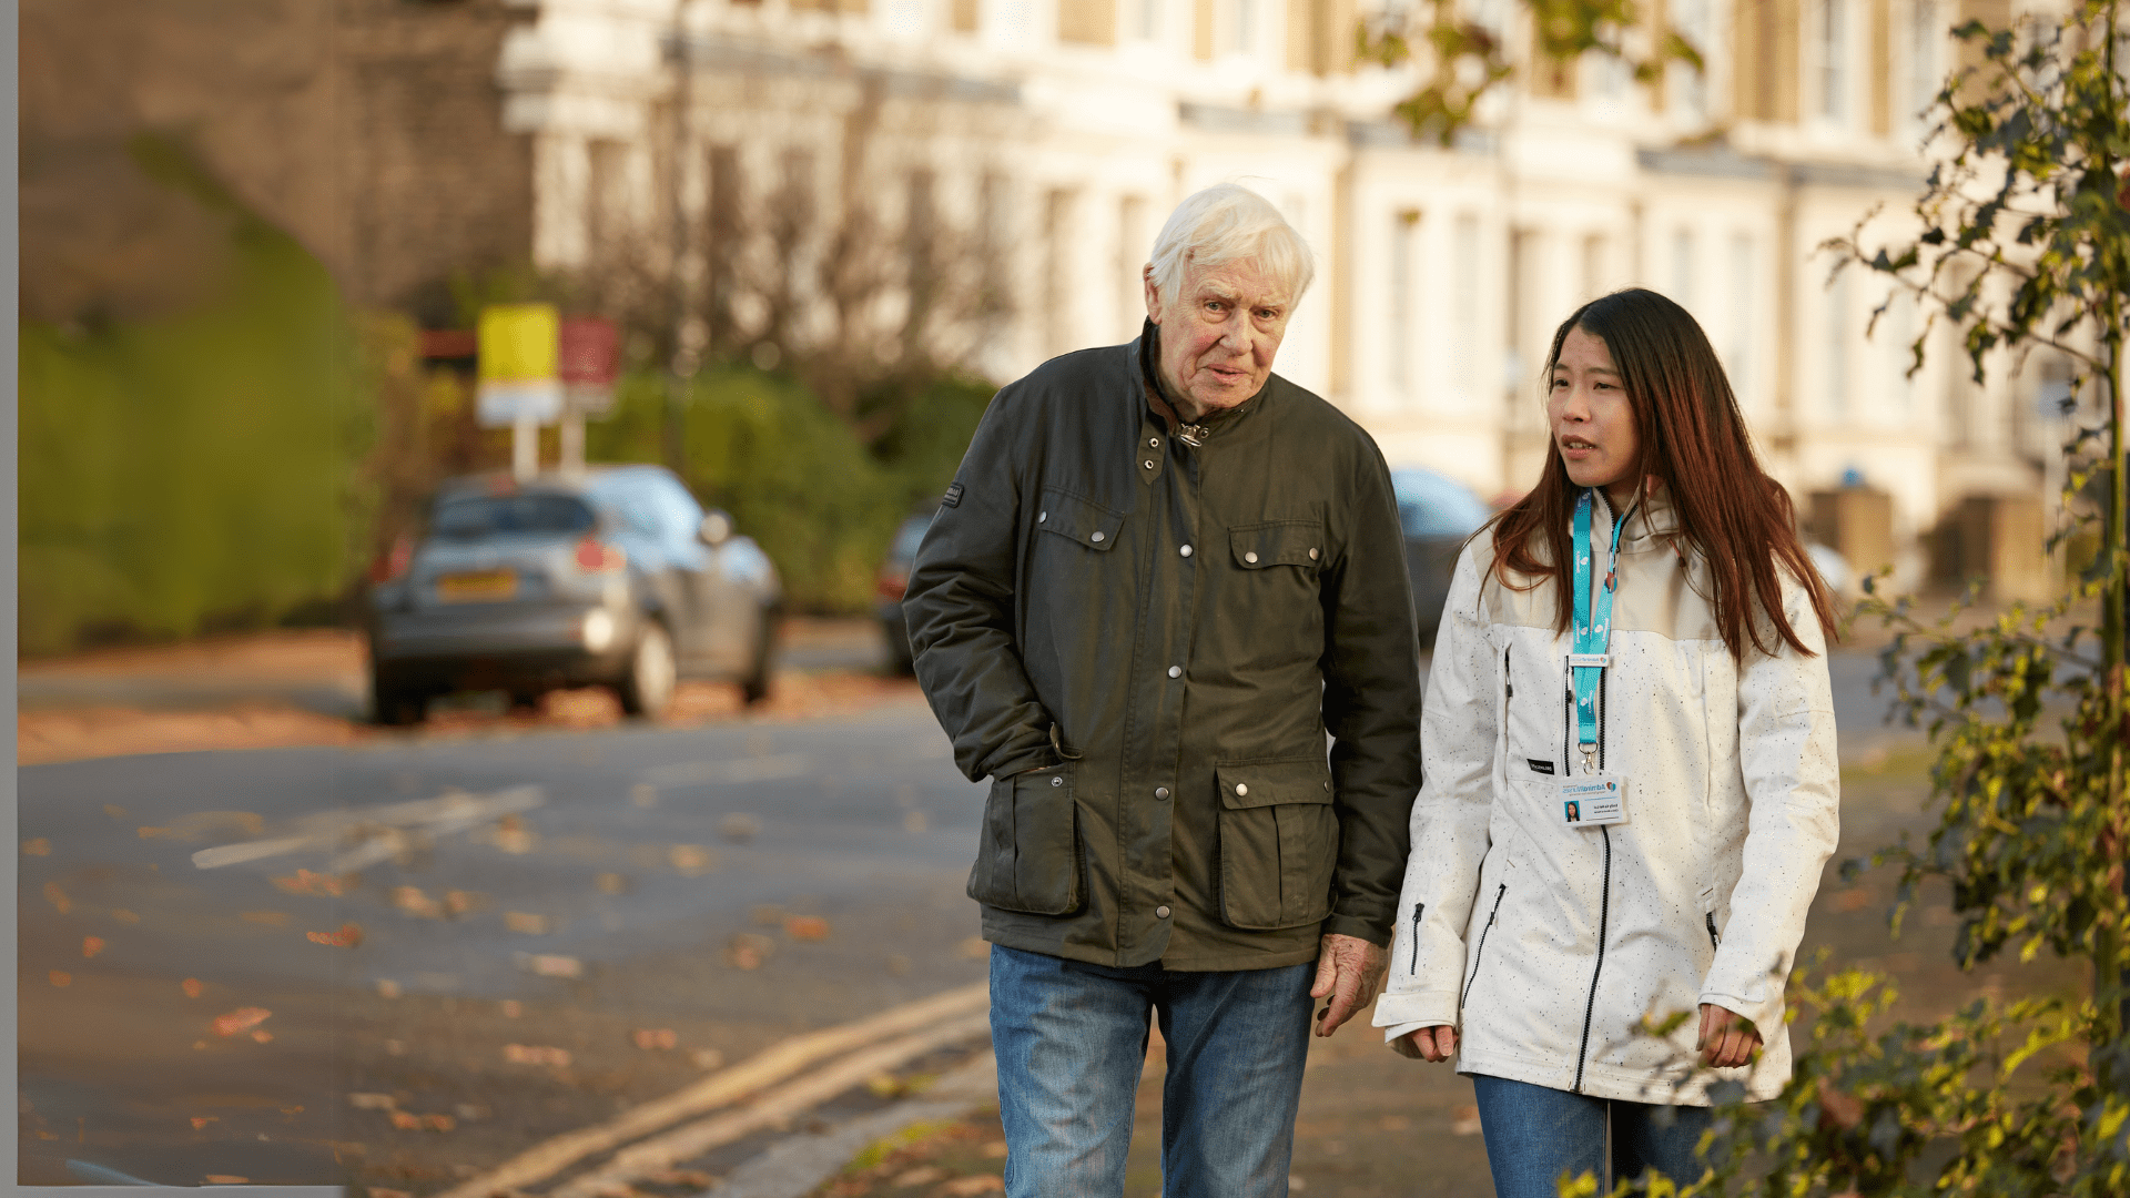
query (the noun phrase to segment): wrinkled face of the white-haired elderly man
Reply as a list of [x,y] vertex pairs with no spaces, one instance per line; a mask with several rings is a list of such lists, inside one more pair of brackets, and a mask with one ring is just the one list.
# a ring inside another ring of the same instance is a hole
[[1161,382],[1184,420],[1235,407],[1272,377],[1293,301],[1252,260],[1184,266],[1178,294],[1163,296],[1146,269],[1146,318],[1161,326]]

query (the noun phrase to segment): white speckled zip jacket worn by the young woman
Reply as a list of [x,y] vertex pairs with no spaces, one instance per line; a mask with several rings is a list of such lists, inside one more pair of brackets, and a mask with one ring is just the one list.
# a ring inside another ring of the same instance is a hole
[[[1612,520],[1593,524],[1606,548]],[[1627,823],[1610,827],[1570,825],[1557,799],[1583,763],[1553,584],[1504,588],[1489,535],[1457,563],[1374,1021],[1387,1036],[1459,1025],[1459,1072],[1702,1106],[1698,1019],[1670,1042],[1638,1025],[1708,1002],[1766,1040],[1757,1064],[1715,1076],[1753,1100],[1789,1081],[1783,983],[1840,819],[1825,644],[1785,584],[1817,657],[1781,646],[1736,665],[1674,529],[1655,497],[1621,531],[1600,744],[1602,770],[1627,778]]]

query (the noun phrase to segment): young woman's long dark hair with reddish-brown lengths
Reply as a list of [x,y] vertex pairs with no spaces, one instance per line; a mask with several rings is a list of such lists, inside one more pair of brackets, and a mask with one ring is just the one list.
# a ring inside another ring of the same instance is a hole
[[[1738,411],[1723,365],[1693,315],[1657,292],[1629,288],[1576,309],[1553,335],[1546,379],[1561,360],[1568,333],[1583,328],[1612,354],[1634,409],[1636,477],[1664,484],[1678,514],[1678,552],[1693,550],[1708,565],[1717,629],[1732,659],[1744,648],[1774,652],[1787,642],[1810,652],[1783,614],[1787,569],[1813,599],[1819,627],[1834,637],[1834,597],[1798,541],[1789,492],[1759,469],[1753,441]],[[1546,467],[1538,486],[1493,518],[1493,573],[1502,586],[1529,590],[1555,580],[1555,629],[1568,631],[1574,614],[1570,520],[1583,488],[1568,477],[1553,428],[1546,428]],[[1534,552],[1544,541],[1544,561]],[[1755,608],[1766,620],[1755,618]]]

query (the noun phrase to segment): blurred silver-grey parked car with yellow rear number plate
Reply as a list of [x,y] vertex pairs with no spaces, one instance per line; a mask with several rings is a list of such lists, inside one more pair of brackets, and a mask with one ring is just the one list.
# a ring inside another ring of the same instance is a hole
[[422,539],[373,582],[379,723],[415,723],[462,689],[537,703],[607,684],[639,716],[662,714],[679,678],[739,682],[750,703],[769,693],[777,571],[662,467],[449,480]]

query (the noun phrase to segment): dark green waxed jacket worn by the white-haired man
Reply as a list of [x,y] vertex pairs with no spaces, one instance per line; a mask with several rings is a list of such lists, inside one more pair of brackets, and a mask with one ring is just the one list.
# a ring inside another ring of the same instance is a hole
[[1148,373],[1133,341],[1001,390],[910,576],[918,680],[993,778],[984,938],[1172,970],[1387,944],[1421,686],[1382,454],[1278,375],[1191,448]]

